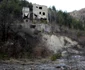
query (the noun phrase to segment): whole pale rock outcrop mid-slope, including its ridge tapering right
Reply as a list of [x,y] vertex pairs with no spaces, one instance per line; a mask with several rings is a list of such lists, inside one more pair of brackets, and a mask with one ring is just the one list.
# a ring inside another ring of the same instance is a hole
[[68,48],[78,44],[76,41],[73,41],[66,36],[57,36],[53,34],[42,34],[42,40],[44,41],[44,44],[46,44],[47,48],[54,53],[62,48]]

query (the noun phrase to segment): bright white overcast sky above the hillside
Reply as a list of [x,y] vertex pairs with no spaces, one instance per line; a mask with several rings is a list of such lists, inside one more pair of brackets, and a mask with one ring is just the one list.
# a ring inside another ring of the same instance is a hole
[[56,10],[72,12],[85,8],[85,0],[27,0],[32,3],[46,5],[49,7],[55,6]]

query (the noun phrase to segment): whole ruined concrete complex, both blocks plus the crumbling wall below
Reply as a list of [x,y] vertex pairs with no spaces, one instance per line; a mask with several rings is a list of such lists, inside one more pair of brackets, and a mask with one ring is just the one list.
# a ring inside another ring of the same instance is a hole
[[32,11],[30,11],[29,7],[23,7],[22,9],[22,17],[25,21],[29,22],[32,17],[32,21],[37,21],[36,24],[34,22],[29,22],[29,24],[23,24],[25,28],[29,28],[32,33],[35,32],[51,32],[50,24],[45,24],[45,22],[39,22],[39,20],[48,21],[48,8],[44,5],[33,4]]

